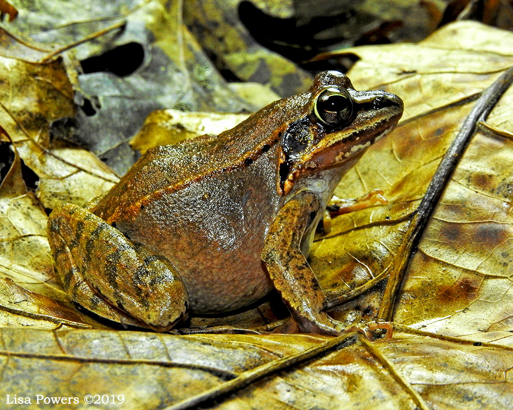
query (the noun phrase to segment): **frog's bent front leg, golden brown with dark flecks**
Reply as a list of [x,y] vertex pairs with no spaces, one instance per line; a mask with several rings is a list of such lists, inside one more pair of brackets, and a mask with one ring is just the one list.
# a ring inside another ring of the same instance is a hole
[[262,260],[283,300],[303,332],[339,334],[344,327],[322,311],[325,297],[301,253],[301,239],[320,207],[318,198],[302,192],[280,210],[267,234]]

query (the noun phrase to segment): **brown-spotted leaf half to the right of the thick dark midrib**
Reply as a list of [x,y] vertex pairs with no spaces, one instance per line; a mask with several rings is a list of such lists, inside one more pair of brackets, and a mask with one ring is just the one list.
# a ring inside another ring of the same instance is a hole
[[[503,118],[512,103],[508,90],[480,125],[429,221],[399,307],[419,286],[428,300],[416,318],[401,314],[405,323],[449,335],[511,330],[513,134]],[[413,274],[433,271],[436,289]]]

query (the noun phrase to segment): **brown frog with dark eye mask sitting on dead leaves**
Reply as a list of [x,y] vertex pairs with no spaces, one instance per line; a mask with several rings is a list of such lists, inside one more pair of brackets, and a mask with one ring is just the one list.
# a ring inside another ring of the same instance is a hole
[[340,335],[307,257],[341,178],[402,113],[397,95],[323,71],[228,131],[148,150],[103,197],[49,215],[63,288],[159,332],[275,290],[299,332]]

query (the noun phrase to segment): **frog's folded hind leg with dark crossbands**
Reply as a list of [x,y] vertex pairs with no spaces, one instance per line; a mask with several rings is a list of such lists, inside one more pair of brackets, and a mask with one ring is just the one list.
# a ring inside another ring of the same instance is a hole
[[69,203],[56,208],[48,240],[64,288],[87,309],[102,315],[110,303],[159,331],[185,315],[187,291],[172,265],[92,213]]

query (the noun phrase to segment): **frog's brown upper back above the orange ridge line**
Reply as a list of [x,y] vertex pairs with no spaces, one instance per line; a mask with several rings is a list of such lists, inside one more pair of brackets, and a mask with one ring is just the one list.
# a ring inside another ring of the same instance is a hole
[[279,140],[287,116],[304,103],[302,95],[276,101],[219,136],[202,135],[176,145],[148,150],[93,212],[108,222],[121,214],[134,215],[163,192],[179,191],[191,183],[249,167]]

